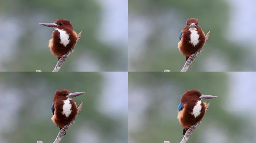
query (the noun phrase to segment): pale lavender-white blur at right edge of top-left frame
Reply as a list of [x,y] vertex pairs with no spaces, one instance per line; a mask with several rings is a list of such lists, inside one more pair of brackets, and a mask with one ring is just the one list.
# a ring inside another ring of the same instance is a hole
[[128,44],[128,0],[98,0],[103,8],[98,36],[103,42]]

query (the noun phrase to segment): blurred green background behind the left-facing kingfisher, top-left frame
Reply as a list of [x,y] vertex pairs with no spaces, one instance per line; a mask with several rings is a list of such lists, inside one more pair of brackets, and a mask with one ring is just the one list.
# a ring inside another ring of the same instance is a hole
[[128,0],[1,0],[0,71],[52,71],[54,29],[39,23],[58,18],[82,31],[60,71],[127,71]]

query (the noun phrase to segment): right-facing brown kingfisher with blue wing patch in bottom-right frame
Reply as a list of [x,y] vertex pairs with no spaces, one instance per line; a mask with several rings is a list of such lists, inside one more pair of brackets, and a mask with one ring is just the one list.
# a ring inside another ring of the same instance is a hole
[[180,99],[180,104],[178,105],[178,120],[183,127],[183,135],[186,131],[191,128],[192,125],[198,123],[202,120],[205,113],[205,102],[201,99],[211,99],[217,96],[212,95],[202,95],[198,90],[187,90],[182,98]]

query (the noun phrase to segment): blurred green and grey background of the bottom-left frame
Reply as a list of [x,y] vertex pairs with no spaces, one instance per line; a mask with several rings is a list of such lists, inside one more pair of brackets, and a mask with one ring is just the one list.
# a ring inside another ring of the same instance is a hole
[[128,73],[0,73],[0,143],[51,143],[56,90],[85,94],[83,108],[61,143],[127,143]]

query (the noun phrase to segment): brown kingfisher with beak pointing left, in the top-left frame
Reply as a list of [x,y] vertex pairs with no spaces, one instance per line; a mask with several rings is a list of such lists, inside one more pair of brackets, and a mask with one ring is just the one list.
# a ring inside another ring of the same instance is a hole
[[58,60],[76,44],[77,33],[73,30],[70,20],[57,19],[53,23],[39,23],[40,25],[52,27],[52,38],[49,40],[48,47]]

